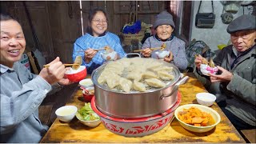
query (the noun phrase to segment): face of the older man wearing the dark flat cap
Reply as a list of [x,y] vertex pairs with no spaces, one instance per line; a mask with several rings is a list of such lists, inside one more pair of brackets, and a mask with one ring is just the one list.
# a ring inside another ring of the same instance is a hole
[[256,30],[241,30],[230,34],[231,42],[234,47],[243,52],[254,46],[256,39]]

